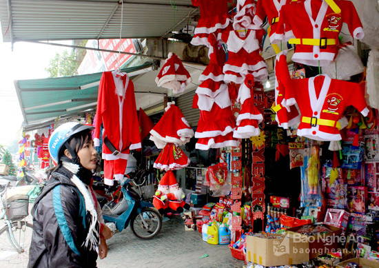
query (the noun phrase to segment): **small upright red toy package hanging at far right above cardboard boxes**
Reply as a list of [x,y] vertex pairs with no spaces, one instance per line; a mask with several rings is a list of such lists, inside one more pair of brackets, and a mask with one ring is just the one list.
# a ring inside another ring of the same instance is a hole
[[349,186],[347,187],[347,207],[350,212],[365,214],[368,199],[367,187]]

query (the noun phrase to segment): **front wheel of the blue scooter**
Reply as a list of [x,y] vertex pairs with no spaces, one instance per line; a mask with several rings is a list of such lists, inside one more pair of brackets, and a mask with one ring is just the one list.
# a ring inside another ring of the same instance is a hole
[[161,231],[161,227],[161,214],[150,207],[143,208],[142,212],[132,218],[130,222],[133,234],[144,240],[149,240],[156,236]]

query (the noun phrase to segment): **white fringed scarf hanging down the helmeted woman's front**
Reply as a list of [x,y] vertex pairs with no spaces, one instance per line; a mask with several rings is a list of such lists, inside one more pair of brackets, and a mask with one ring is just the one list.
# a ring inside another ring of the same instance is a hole
[[96,250],[98,246],[97,238],[99,238],[100,236],[98,231],[96,230],[97,212],[94,208],[92,196],[88,192],[88,189],[85,187],[84,183],[81,180],[79,180],[79,178],[76,175],[72,176],[71,181],[72,183],[74,183],[74,185],[76,185],[76,187],[78,187],[79,192],[83,194],[85,210],[90,212],[92,218],[87,237],[85,238],[85,242],[83,242],[83,244],[88,249]]

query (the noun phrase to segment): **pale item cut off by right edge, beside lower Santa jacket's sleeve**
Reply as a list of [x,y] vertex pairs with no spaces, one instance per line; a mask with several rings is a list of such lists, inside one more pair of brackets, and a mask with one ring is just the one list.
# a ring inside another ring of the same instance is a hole
[[371,107],[379,109],[379,50],[369,52],[367,62],[367,94]]

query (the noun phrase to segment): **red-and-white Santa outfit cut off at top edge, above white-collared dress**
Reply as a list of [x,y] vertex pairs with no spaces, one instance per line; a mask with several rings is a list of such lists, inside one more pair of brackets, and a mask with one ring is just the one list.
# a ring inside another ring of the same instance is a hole
[[252,29],[259,30],[260,24],[253,23],[254,14],[256,13],[255,0],[237,0],[237,13],[234,15],[233,29],[244,30]]

